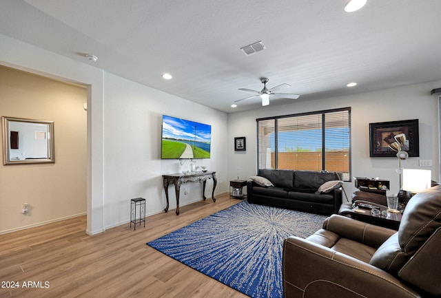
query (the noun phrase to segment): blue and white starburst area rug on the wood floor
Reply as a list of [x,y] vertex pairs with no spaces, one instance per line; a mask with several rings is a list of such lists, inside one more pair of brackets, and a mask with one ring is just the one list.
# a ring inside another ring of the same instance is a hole
[[243,201],[147,245],[249,297],[282,298],[283,240],[305,238],[325,219]]

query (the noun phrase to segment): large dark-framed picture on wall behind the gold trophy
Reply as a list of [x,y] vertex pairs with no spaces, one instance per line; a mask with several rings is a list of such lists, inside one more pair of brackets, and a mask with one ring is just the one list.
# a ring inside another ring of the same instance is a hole
[[407,141],[402,147],[409,157],[420,156],[418,119],[369,123],[369,156],[396,157],[396,151],[389,148],[395,142],[394,136],[405,134]]

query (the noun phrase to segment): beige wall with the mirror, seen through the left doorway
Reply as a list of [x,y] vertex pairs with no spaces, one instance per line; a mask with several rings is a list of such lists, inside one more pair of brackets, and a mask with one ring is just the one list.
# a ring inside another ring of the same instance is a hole
[[53,120],[56,158],[1,164],[0,233],[85,213],[86,101],[85,87],[0,66],[0,116]]

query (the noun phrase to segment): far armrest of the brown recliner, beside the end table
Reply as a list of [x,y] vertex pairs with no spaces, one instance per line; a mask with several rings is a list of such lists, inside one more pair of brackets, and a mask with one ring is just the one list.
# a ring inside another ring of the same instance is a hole
[[331,215],[325,220],[323,228],[336,233],[342,238],[354,240],[373,248],[380,247],[391,235],[397,233],[397,231],[389,228],[374,226],[373,224],[367,224],[336,214]]

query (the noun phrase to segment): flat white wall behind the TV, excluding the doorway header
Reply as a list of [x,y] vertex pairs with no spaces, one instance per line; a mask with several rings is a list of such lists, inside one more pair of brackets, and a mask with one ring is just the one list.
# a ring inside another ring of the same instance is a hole
[[[212,125],[211,158],[196,160],[196,165],[206,164],[207,169],[217,172],[216,193],[228,190],[227,114],[108,73],[104,74],[104,90],[106,227],[129,220],[131,198],[146,199],[147,215],[163,212],[165,193],[161,174],[181,172],[179,160],[161,160],[163,114]],[[189,162],[183,169],[189,169]],[[212,180],[208,180],[207,198],[211,198],[212,185]],[[174,209],[174,187],[170,187],[169,195],[170,209]],[[182,184],[180,206],[201,198],[200,183]]]

